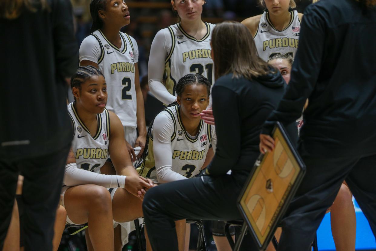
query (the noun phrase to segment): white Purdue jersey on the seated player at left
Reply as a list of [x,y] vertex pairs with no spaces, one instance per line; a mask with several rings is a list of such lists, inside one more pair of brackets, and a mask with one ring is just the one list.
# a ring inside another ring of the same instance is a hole
[[74,134],[72,141],[72,150],[76,158],[78,168],[100,173],[108,154],[108,138],[110,136],[109,114],[107,109],[101,114],[97,114],[97,133],[91,136],[89,130],[80,120],[74,103],[68,105],[68,112],[71,117]]

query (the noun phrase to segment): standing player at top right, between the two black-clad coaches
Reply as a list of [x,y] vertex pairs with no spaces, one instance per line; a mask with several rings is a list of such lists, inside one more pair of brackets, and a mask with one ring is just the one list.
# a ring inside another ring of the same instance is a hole
[[267,11],[242,21],[250,30],[260,58],[268,61],[277,53],[293,58],[299,46],[300,20],[303,14],[289,11],[294,0],[260,0]]

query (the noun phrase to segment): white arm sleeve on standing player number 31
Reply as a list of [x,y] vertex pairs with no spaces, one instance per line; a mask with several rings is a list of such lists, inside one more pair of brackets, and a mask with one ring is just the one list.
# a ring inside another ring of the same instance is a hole
[[171,50],[171,35],[168,29],[159,30],[150,48],[149,64],[147,74],[149,77],[149,88],[151,93],[162,103],[170,104],[176,97],[168,92],[162,84],[165,71],[165,59]]

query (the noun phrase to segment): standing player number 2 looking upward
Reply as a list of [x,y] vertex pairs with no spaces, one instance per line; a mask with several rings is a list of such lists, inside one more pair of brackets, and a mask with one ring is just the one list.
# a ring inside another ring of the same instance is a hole
[[[146,142],[144,101],[139,85],[138,46],[134,38],[120,32],[130,23],[124,0],[92,0],[91,34],[80,46],[80,65],[99,68],[108,83],[108,110],[117,114],[124,126],[128,151],[136,160],[133,147]],[[138,136],[137,131],[138,129]]]

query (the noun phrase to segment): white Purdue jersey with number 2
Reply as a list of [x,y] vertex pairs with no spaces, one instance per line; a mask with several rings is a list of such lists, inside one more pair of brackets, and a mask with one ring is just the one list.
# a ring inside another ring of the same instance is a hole
[[90,34],[100,44],[98,66],[107,83],[106,108],[113,111],[123,126],[137,127],[137,102],[135,90],[135,65],[133,62],[132,40],[126,33],[120,32],[121,48],[107,40],[101,30]]

